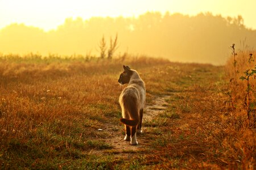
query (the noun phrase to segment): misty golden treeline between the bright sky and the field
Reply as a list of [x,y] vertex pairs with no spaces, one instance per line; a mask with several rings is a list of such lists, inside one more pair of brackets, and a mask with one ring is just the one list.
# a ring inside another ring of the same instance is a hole
[[146,12],[138,18],[67,18],[57,29],[48,32],[24,24],[11,24],[0,30],[0,53],[100,56],[102,36],[108,48],[110,38],[114,39],[116,34],[115,56],[129,53],[215,65],[226,62],[230,56],[229,46],[233,43],[237,49],[243,48],[243,43],[249,50],[256,45],[256,31],[245,27],[242,16],[224,18],[210,12],[196,16]]

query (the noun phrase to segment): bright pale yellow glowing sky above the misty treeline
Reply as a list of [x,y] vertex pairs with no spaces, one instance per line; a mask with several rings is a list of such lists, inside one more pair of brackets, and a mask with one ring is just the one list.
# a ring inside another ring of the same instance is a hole
[[255,0],[0,0],[0,29],[11,23],[24,23],[48,31],[70,17],[136,17],[147,11],[188,15],[209,11],[222,16],[242,15],[246,27],[256,29],[255,6]]

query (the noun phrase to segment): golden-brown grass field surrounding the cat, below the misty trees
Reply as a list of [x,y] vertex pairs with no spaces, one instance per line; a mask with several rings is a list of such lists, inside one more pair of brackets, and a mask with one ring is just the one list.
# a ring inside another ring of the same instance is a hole
[[[124,137],[118,97],[125,86],[117,82],[123,64],[141,74],[147,105],[161,96],[167,96],[167,104],[165,111],[144,122],[138,146],[120,150],[119,142],[109,139]],[[255,129],[238,125],[241,120],[226,103],[229,78],[222,66],[145,57],[14,56],[1,58],[0,77],[3,169],[253,169],[256,165]]]

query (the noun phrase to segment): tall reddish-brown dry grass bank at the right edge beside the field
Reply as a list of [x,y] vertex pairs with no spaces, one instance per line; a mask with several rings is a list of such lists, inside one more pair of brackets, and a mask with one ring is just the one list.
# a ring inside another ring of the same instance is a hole
[[[233,99],[236,103],[236,109],[242,109],[246,111],[247,124],[250,124],[251,128],[256,128],[255,120],[255,109],[256,109],[256,79],[255,79],[255,66],[256,61],[254,57],[256,56],[255,51],[250,50],[240,50],[237,53],[237,76],[240,78],[237,80],[236,84],[232,83],[232,59],[230,59],[225,67],[226,75],[230,78],[231,82],[229,88],[232,91]],[[251,114],[251,117],[250,117]],[[243,115],[244,116],[244,115]]]

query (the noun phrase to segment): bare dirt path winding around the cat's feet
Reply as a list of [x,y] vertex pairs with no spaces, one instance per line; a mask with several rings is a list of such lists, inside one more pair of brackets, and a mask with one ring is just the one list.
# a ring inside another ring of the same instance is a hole
[[[148,139],[143,135],[144,133],[147,133],[147,127],[143,126],[143,122],[151,121],[156,115],[163,112],[167,108],[168,103],[166,100],[168,97],[170,96],[156,97],[153,102],[154,104],[146,106],[146,111],[144,111],[143,114],[142,134],[137,135],[139,145],[131,146],[130,142],[124,141],[123,138],[125,137],[125,134],[123,128],[120,129],[120,126],[115,125],[107,125],[105,127],[104,131],[109,133],[110,137],[104,141],[112,145],[115,152],[137,151],[138,148],[145,148],[147,146]],[[116,129],[117,131],[113,131],[113,129]]]

